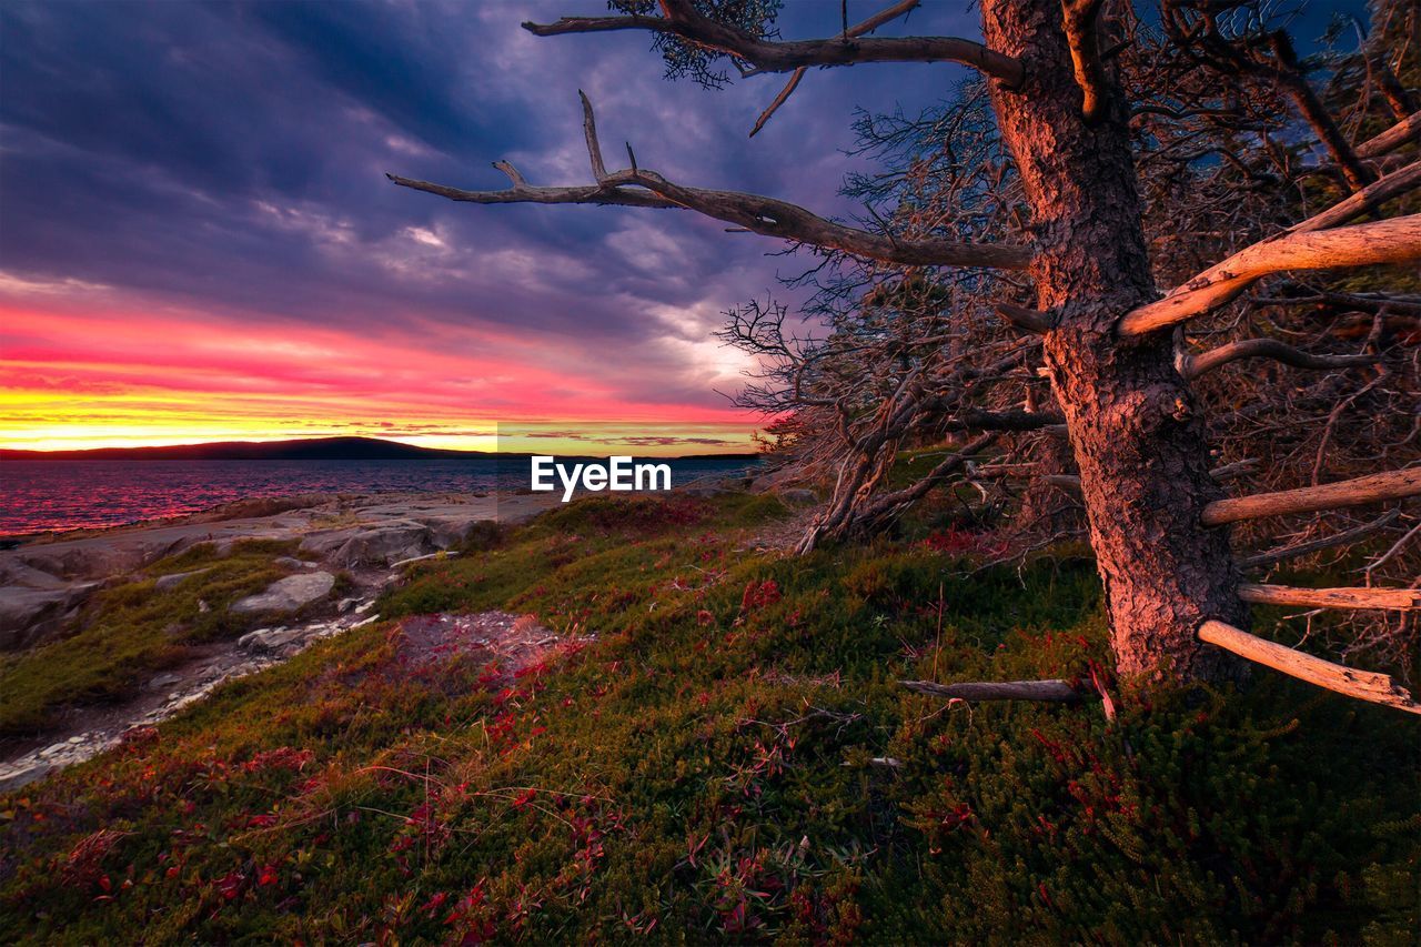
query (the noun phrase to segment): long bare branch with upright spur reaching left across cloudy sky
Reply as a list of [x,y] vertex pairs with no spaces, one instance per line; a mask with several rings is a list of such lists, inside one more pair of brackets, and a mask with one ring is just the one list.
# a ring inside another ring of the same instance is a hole
[[593,185],[536,188],[507,162],[499,162],[513,186],[503,191],[463,191],[445,185],[415,181],[398,175],[385,176],[402,188],[423,191],[449,200],[469,203],[591,203],[634,208],[685,208],[716,220],[725,220],[763,236],[796,243],[843,250],[871,260],[905,266],[972,266],[1025,269],[1032,259],[1026,247],[1010,245],[972,245],[953,240],[908,240],[870,233],[821,218],[774,198],[762,198],[736,191],[710,191],[672,183],[654,171],[632,166],[607,172],[591,102],[583,95],[583,129],[587,138],[593,173],[600,175]]

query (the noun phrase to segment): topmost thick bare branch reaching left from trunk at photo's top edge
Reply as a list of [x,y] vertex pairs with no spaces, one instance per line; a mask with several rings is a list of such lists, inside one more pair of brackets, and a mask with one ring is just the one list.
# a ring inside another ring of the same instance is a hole
[[523,28],[534,36],[647,30],[733,55],[749,63],[756,73],[790,73],[809,65],[855,63],[959,63],[1002,80],[1007,87],[1016,87],[1022,81],[1022,64],[1015,58],[959,37],[858,38],[840,34],[824,40],[772,41],[718,23],[701,14],[689,0],[662,0],[661,7],[665,16],[659,17],[563,17],[556,23],[524,23]]

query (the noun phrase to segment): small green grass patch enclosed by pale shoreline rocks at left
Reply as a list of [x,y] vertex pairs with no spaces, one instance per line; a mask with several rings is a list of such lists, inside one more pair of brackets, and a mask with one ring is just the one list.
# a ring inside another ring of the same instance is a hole
[[[219,556],[205,543],[155,563],[141,579],[101,590],[71,634],[0,656],[0,737],[44,729],[68,704],[126,697],[180,661],[186,646],[250,630],[261,616],[234,614],[226,606],[287,574],[271,559],[294,547],[256,540]],[[153,592],[159,576],[195,570],[205,572]]]

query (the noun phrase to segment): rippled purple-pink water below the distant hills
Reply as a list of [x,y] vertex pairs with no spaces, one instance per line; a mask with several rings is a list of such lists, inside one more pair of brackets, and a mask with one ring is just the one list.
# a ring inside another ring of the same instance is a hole
[[[713,458],[669,464],[674,486],[753,465]],[[0,461],[0,535],[119,526],[259,496],[489,492],[527,485],[526,464],[492,459]]]

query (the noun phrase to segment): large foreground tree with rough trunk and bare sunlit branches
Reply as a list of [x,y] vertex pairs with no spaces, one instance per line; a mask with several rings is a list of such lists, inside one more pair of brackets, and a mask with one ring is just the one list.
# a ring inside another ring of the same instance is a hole
[[[1033,337],[1030,344],[1040,344],[1079,468],[1117,671],[1147,681],[1229,680],[1243,667],[1235,654],[1277,667],[1282,663],[1269,650],[1277,646],[1239,630],[1246,624],[1246,590],[1241,590],[1225,526],[1286,510],[1412,496],[1421,493],[1421,468],[1226,498],[1211,474],[1211,445],[1191,378],[1196,373],[1178,358],[1175,330],[1276,273],[1421,259],[1421,215],[1380,216],[1387,202],[1421,183],[1421,173],[1415,164],[1385,172],[1376,166],[1414,141],[1417,117],[1400,122],[1400,132],[1388,129],[1380,141],[1358,148],[1326,141],[1341,161],[1350,196],[1290,228],[1273,229],[1161,297],[1145,232],[1131,102],[1115,61],[1130,43],[1127,11],[1103,0],[982,0],[983,43],[868,36],[914,6],[904,0],[855,27],[845,23],[838,36],[800,41],[770,38],[773,9],[753,0],[661,0],[659,10],[641,0],[617,0],[614,16],[524,26],[537,36],[644,30],[657,38],[669,71],[709,82],[723,81],[723,74],[712,71],[723,58],[742,75],[790,73],[762,122],[793,94],[810,67],[942,60],[971,65],[986,84],[995,129],[1029,212],[1029,242],[1000,239],[1009,236],[1002,233],[969,235],[951,225],[911,237],[884,228],[848,226],[773,198],[671,182],[638,166],[630,148],[628,166],[607,171],[585,97],[591,185],[533,186],[506,162],[497,166],[512,186],[496,192],[392,179],[475,203],[681,208],[753,233],[878,263],[1027,277],[1033,306],[998,310]],[[1265,18],[1260,7],[1165,3],[1162,13],[1178,55],[1273,82],[1295,102],[1304,102],[1303,117],[1317,128],[1316,95],[1297,85],[1290,47],[1259,27]],[[1353,223],[1364,215],[1377,219]],[[983,286],[990,291],[992,280]],[[979,297],[976,306],[992,301]],[[1279,350],[1255,346],[1246,354],[1279,357]],[[978,427],[989,437],[1003,421],[1000,412],[988,415],[966,417],[963,427]],[[1032,419],[1037,427],[1040,421]],[[1303,675],[1314,683],[1421,711],[1384,675],[1358,684],[1346,668],[1299,657],[1307,664]],[[1282,670],[1297,673],[1295,667]]]

